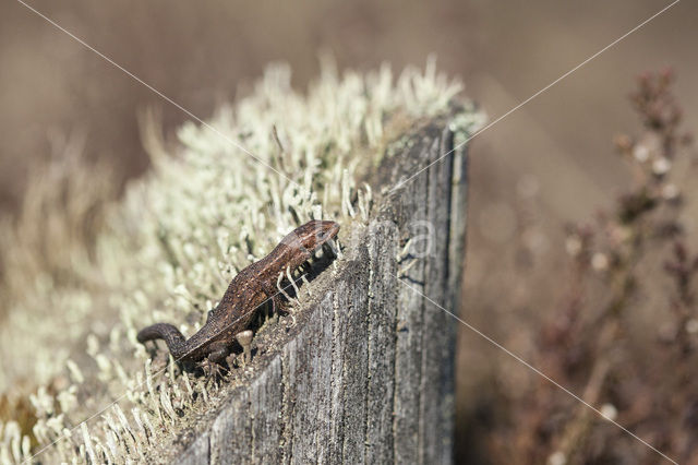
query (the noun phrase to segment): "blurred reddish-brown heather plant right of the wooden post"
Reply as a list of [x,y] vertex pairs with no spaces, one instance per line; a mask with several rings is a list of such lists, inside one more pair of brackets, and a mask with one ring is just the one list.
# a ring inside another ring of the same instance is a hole
[[[615,140],[630,168],[631,188],[594,222],[568,227],[566,296],[539,331],[533,361],[603,417],[673,460],[698,464],[698,255],[686,245],[682,213],[688,199],[676,179],[694,160],[673,82],[671,70],[638,78],[630,102],[642,132]],[[661,306],[670,311],[658,309],[651,320],[655,326],[640,331],[639,303],[658,286]],[[493,462],[661,461],[545,380],[528,390],[526,396],[517,394],[526,402],[501,393],[509,402],[506,420],[490,436]]]

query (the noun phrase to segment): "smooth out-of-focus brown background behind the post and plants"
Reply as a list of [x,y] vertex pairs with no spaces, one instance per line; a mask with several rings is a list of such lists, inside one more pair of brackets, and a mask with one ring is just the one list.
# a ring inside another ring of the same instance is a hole
[[[318,71],[318,52],[329,51],[340,68],[363,70],[384,61],[394,70],[423,65],[433,52],[491,120],[667,3],[31,2],[203,119],[244,93],[269,61],[289,62],[303,88]],[[467,321],[522,354],[533,344],[525,329],[561,298],[563,226],[607,207],[628,184],[612,140],[638,127],[627,98],[635,75],[673,67],[686,127],[696,128],[697,14],[696,3],[676,4],[472,141]],[[139,115],[159,109],[166,132],[188,118],[19,2],[0,5],[0,63],[2,217],[16,212],[34,164],[67,144],[84,144],[87,158],[108,162],[123,186],[148,168]],[[506,357],[462,330],[461,461],[486,455],[474,442],[486,434],[482,424],[495,421],[482,407],[491,402],[482,386],[494,367],[512,363],[530,375]]]

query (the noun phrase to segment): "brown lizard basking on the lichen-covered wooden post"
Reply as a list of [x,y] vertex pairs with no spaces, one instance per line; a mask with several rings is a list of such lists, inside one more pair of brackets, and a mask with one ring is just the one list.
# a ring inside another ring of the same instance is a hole
[[230,282],[220,302],[208,312],[206,323],[189,339],[172,324],[156,323],[144,327],[136,338],[164,339],[176,361],[203,362],[206,367],[224,363],[236,335],[245,331],[257,310],[272,301],[272,311],[281,307],[277,279],[287,269],[294,271],[313,258],[323,246],[330,245],[339,225],[330,220],[313,219],[288,234],[262,260],[241,270]]

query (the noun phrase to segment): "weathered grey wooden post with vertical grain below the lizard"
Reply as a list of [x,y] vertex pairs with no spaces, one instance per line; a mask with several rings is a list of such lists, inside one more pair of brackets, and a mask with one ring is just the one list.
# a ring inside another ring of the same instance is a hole
[[[296,331],[253,360],[179,463],[452,462],[457,322],[420,293],[457,311],[466,154],[388,192],[454,147],[447,120],[408,139],[376,176],[371,224],[340,235],[346,257],[311,283]],[[411,254],[425,250],[428,231],[430,253],[400,261],[409,238]]]

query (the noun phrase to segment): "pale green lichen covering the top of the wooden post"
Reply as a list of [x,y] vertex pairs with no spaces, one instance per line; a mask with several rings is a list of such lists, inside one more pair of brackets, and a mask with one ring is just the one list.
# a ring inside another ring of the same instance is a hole
[[[192,334],[234,274],[299,223],[366,220],[371,191],[357,180],[397,135],[389,123],[450,111],[460,88],[433,61],[397,80],[387,65],[339,75],[326,63],[303,95],[277,64],[249,97],[217,112],[215,131],[184,124],[174,154],[146,126],[153,172],[109,208],[94,257],[69,249],[69,282],[26,273],[17,284],[26,299],[15,299],[0,330],[0,389],[19,379],[38,386],[36,420],[31,436],[0,421],[0,462],[39,451],[41,462],[145,460],[218,388],[177,374],[171,360],[154,370],[137,330],[168,321]],[[466,132],[482,123],[467,104],[458,118]]]

